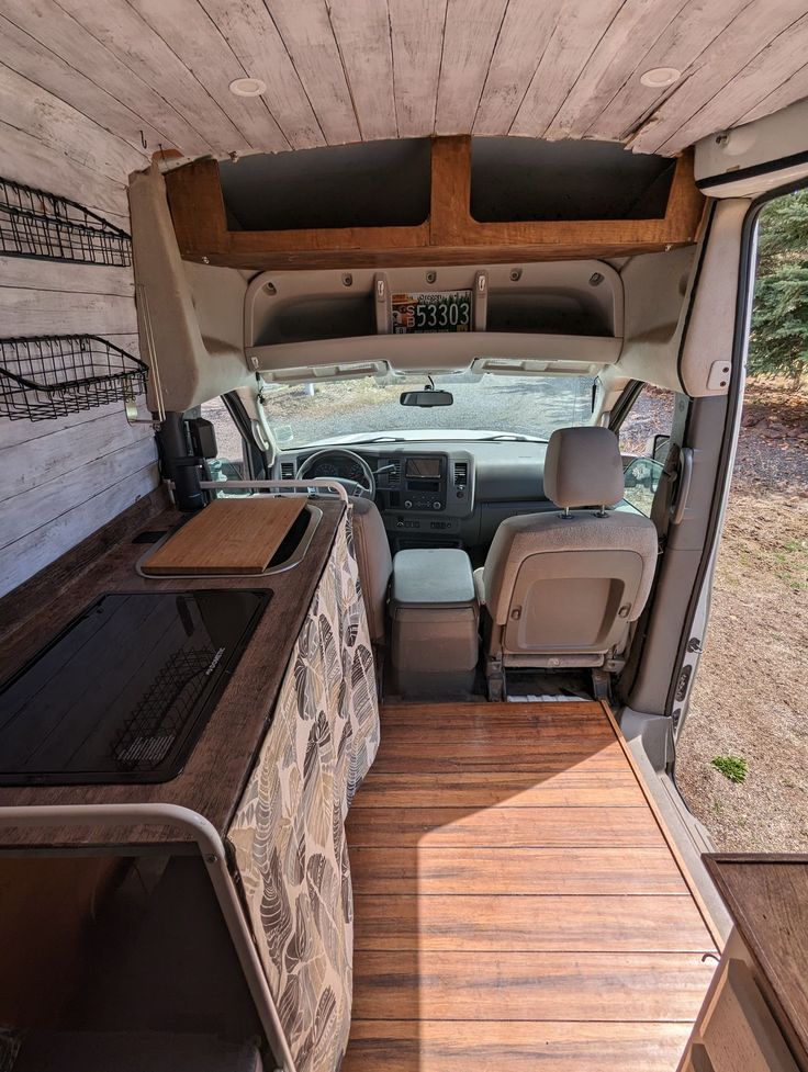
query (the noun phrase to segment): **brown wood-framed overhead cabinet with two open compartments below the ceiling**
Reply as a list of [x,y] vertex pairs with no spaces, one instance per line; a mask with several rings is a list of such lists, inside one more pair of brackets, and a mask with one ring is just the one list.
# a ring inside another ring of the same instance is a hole
[[[583,154],[576,147],[571,161],[548,158],[546,145],[528,142],[535,158],[519,163],[528,179],[506,191],[503,201],[495,188],[500,178],[513,173],[508,155],[514,150],[505,143],[497,167],[483,149],[475,166],[472,143],[484,146],[486,140],[434,138],[422,143],[428,146],[428,158],[411,151],[405,160],[399,160],[401,149],[397,156],[384,156],[379,145],[223,165],[197,160],[166,174],[180,251],[190,260],[251,270],[350,269],[619,257],[696,239],[704,198],[693,180],[689,151],[671,161],[593,145]],[[379,157],[374,182],[368,162],[362,163],[368,154]],[[326,167],[334,160],[333,169]],[[239,168],[245,178],[238,178]],[[591,185],[614,192],[614,198],[591,201],[591,211],[599,216],[565,218],[564,189],[574,174],[588,176]],[[348,181],[351,176],[358,178]],[[313,178],[312,189],[339,226],[322,226],[301,198]],[[391,189],[397,195],[391,196]],[[258,195],[270,203],[269,210],[242,207],[255,205]],[[288,206],[282,215],[280,206]],[[523,212],[527,218],[514,218]]]

